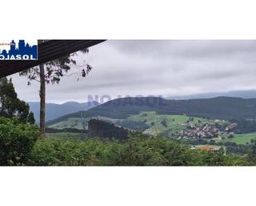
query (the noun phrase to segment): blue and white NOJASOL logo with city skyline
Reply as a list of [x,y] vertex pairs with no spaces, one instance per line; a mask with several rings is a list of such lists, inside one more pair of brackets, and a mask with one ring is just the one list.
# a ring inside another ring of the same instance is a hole
[[0,40],[0,60],[38,60],[37,40]]

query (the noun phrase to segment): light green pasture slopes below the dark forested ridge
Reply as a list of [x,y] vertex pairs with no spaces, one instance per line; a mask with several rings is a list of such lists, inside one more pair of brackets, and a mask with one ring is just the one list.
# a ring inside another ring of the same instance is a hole
[[186,127],[202,127],[204,125],[213,126],[218,122],[218,125],[228,124],[227,121],[210,120],[202,117],[189,117],[186,114],[183,115],[168,115],[157,114],[156,112],[141,112],[139,114],[131,114],[125,119],[114,119],[111,117],[70,117],[65,121],[58,122],[50,126],[50,128],[65,129],[76,128],[85,129],[89,119],[97,118],[106,122],[112,122],[117,126],[126,127],[131,130],[140,130],[141,132],[157,135],[164,133],[171,137],[171,133],[181,132],[186,130]]

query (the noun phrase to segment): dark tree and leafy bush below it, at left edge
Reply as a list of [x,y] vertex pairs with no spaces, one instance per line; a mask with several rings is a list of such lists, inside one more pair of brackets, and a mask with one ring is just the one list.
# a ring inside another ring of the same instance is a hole
[[25,165],[40,133],[29,106],[17,98],[12,79],[0,79],[0,165]]

